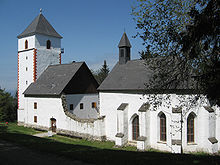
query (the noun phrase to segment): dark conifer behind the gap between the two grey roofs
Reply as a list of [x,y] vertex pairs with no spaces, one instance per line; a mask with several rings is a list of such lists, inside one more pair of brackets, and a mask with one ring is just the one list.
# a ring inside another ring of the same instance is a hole
[[109,68],[106,63],[106,60],[104,60],[104,64],[102,65],[102,68],[98,71],[92,71],[93,76],[95,77],[96,81],[101,84],[104,79],[108,76]]

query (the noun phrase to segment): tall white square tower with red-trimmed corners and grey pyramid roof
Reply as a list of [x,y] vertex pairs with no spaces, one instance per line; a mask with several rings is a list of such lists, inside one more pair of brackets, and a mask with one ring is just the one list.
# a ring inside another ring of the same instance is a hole
[[61,63],[61,39],[40,14],[18,38],[18,122],[24,121],[24,95],[27,87],[53,64]]

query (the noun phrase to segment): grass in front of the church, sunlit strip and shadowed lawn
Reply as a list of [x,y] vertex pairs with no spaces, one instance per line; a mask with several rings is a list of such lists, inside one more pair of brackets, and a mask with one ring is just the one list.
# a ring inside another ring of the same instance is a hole
[[93,164],[220,164],[219,156],[136,152],[135,147],[115,148],[112,142],[87,141],[84,139],[55,135],[50,138],[32,136],[34,129],[9,124],[0,133],[4,139],[32,150],[49,152],[58,156]]

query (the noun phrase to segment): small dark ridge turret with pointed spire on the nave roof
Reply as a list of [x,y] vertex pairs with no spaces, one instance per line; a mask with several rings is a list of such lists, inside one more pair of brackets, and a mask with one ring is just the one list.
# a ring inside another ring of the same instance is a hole
[[118,44],[118,48],[119,48],[119,64],[126,64],[126,62],[130,61],[131,59],[131,51],[130,51],[131,44],[125,32],[121,37],[121,40]]

